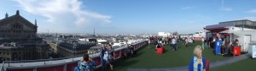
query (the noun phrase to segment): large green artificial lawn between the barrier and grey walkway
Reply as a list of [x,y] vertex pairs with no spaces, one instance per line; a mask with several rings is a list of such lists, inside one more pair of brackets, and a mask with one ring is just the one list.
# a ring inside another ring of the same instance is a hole
[[[172,46],[166,45],[163,54],[154,52],[155,45],[143,46],[137,50],[137,55],[129,59],[120,59],[114,63],[114,70],[126,71],[127,68],[177,68],[189,65],[193,57],[194,47],[201,45],[201,41],[195,41],[193,46],[183,46],[178,44],[177,51],[172,51]],[[152,47],[152,49],[150,49]],[[223,60],[224,56],[215,56],[212,48],[203,50],[203,57],[211,62]]]

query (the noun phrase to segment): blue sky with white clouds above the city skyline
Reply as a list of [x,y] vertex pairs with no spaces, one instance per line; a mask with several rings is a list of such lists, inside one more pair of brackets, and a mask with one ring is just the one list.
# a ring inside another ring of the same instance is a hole
[[256,21],[256,0],[2,0],[0,19],[20,15],[38,33],[182,34],[218,22]]

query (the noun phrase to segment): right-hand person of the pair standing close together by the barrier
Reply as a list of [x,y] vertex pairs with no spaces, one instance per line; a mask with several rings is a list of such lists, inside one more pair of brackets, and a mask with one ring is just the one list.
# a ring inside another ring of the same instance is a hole
[[113,60],[114,60],[114,50],[111,45],[108,45],[108,62],[109,62],[109,67],[111,71],[113,71]]

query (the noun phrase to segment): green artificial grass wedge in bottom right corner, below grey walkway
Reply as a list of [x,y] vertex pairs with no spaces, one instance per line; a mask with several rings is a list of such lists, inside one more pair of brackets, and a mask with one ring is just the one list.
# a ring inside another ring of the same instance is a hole
[[236,63],[230,63],[218,68],[211,68],[210,71],[255,71],[255,64],[255,59],[247,58]]

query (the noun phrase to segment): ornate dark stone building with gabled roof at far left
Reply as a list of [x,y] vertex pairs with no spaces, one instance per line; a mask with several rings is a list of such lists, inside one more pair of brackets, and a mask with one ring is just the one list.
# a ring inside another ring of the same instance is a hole
[[0,19],[0,61],[49,58],[49,45],[37,36],[37,20],[32,24],[19,10]]

